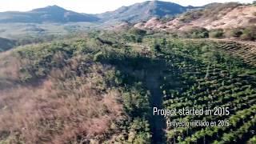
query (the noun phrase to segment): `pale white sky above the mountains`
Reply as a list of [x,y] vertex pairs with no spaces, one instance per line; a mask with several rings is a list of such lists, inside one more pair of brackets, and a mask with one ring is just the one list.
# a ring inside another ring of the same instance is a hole
[[[130,6],[146,0],[0,0],[0,11],[28,11],[35,8],[57,5],[66,10],[79,13],[99,14],[116,10],[121,6]],[[163,0],[175,2],[182,6],[203,6],[210,2],[242,2],[251,3],[254,0]]]

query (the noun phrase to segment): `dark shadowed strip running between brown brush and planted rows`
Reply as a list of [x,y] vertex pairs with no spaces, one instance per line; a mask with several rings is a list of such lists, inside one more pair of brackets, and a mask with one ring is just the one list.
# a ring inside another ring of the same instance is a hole
[[108,58],[101,61],[102,64],[110,64],[119,70],[123,78],[123,85],[134,86],[135,82],[142,82],[145,90],[150,91],[150,111],[148,112],[152,143],[165,142],[166,121],[162,116],[153,115],[153,108],[162,109],[163,94],[160,89],[162,70],[166,70],[167,64],[162,59],[146,57]]

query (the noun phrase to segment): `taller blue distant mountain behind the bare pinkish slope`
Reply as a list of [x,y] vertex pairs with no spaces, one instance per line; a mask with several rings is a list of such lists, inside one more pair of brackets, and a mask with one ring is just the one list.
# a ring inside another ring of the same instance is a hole
[[136,3],[132,6],[122,6],[118,10],[97,14],[97,16],[98,18],[102,18],[103,21],[139,22],[153,17],[162,18],[168,15],[174,16],[176,14],[182,14],[194,8],[197,7],[180,6],[173,2],[146,1]]

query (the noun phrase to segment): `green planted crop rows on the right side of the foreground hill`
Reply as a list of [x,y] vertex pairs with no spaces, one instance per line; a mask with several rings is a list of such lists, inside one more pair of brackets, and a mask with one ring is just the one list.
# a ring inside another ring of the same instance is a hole
[[[229,114],[172,115],[166,122],[225,121],[225,126],[174,127],[166,124],[168,143],[245,143],[254,141],[256,126],[256,70],[241,62],[255,64],[256,55],[246,54],[236,42],[217,46],[204,42],[174,42],[163,46],[168,70],[161,90],[165,109],[209,109],[228,107]],[[212,44],[212,43],[211,43]],[[217,47],[217,49],[216,49]],[[226,53],[220,52],[222,49]],[[231,57],[230,57],[231,54]],[[164,56],[163,56],[164,55]]]

